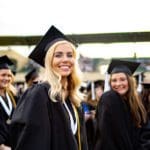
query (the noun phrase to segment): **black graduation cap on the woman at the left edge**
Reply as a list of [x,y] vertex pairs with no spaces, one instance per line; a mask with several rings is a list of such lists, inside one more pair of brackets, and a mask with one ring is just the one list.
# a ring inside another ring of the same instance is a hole
[[13,62],[7,57],[7,55],[0,57],[0,69],[10,69]]

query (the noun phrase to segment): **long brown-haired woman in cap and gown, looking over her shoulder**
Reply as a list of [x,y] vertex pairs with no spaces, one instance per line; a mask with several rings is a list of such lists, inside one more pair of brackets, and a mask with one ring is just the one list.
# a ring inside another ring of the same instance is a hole
[[108,68],[110,90],[102,95],[96,112],[94,150],[143,150],[139,141],[146,111],[133,77],[139,65],[112,59]]

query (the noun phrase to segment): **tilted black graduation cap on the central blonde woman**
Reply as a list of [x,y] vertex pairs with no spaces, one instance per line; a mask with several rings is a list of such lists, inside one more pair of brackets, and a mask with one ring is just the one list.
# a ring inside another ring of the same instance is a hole
[[62,32],[60,32],[55,26],[51,26],[46,34],[39,41],[35,49],[29,55],[29,58],[40,64],[44,67],[44,58],[48,49],[56,42],[67,40],[72,42],[71,39],[68,39]]

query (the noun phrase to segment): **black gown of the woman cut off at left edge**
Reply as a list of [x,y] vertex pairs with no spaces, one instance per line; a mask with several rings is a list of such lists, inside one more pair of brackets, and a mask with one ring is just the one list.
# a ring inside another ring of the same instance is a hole
[[[13,96],[13,95],[12,95]],[[10,97],[11,99],[11,97]],[[15,99],[15,97],[14,97]],[[14,110],[14,108],[13,108]],[[12,112],[13,112],[12,110]],[[9,120],[11,118],[11,115],[8,116],[8,114],[5,112],[2,104],[0,103],[0,144],[9,145]]]

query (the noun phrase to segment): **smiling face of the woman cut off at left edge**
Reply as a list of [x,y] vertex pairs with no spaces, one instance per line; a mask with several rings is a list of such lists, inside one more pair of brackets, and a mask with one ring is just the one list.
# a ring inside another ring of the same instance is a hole
[[11,70],[0,69],[0,89],[5,89],[12,80]]

